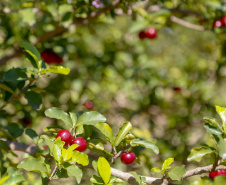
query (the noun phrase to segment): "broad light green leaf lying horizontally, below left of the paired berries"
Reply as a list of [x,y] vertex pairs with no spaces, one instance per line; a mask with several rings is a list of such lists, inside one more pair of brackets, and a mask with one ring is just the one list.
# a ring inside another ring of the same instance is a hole
[[17,168],[39,173],[48,172],[46,165],[36,158],[27,158],[21,161],[20,164],[17,165]]

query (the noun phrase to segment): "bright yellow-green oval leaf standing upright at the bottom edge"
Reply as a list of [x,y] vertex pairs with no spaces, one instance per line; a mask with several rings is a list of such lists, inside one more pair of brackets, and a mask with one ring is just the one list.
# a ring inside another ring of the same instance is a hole
[[108,184],[111,178],[111,167],[104,157],[98,159],[98,172],[105,184]]

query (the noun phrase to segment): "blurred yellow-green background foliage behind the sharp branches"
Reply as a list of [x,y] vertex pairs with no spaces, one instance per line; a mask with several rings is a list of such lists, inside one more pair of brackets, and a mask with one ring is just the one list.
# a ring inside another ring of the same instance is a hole
[[[112,1],[103,3],[98,9],[92,0],[1,0],[0,59],[29,41],[40,52],[52,49],[63,58],[61,65],[71,69],[68,76],[51,74],[39,79],[42,108],[33,110],[21,98],[5,108],[1,126],[16,123],[41,134],[50,124],[60,125],[45,118],[46,109],[89,111],[84,104],[91,101],[93,110],[105,115],[113,130],[129,120],[134,135],[154,140],[160,148],[158,156],[136,148],[140,164],[129,170],[150,175],[150,169],[168,157],[188,169],[198,165],[187,164],[186,158],[192,147],[209,143],[202,118],[216,116],[215,105],[226,105],[225,28],[212,27],[214,20],[225,15],[225,2],[123,0],[116,9],[87,23],[72,24]],[[204,30],[177,24],[171,16]],[[60,26],[68,30],[36,42]],[[157,37],[141,40],[139,32],[149,27],[158,30]],[[2,62],[0,73],[29,66],[19,55]],[[116,167],[125,170],[120,163]]]

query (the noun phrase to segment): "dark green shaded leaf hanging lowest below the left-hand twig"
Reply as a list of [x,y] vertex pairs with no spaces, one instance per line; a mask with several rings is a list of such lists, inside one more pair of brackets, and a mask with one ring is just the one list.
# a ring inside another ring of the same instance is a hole
[[33,109],[40,109],[42,104],[42,96],[34,91],[27,91],[24,93],[28,104],[32,106]]

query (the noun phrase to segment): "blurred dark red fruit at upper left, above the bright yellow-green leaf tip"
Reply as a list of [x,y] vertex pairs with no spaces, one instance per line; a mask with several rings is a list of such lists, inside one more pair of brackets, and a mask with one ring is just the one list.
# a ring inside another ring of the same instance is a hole
[[43,61],[47,64],[60,64],[63,62],[63,59],[52,50],[43,51],[41,56]]

